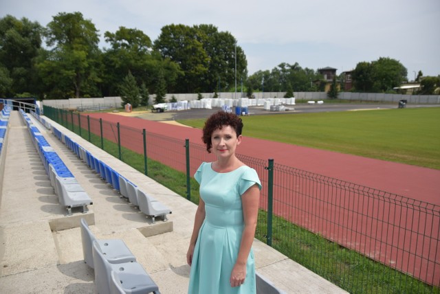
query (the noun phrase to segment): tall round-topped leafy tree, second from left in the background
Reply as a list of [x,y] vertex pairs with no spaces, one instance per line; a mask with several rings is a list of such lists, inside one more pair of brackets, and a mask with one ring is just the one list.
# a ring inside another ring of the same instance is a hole
[[94,23],[84,19],[81,12],[61,12],[47,25],[45,36],[47,46],[52,48],[39,64],[45,80],[51,80],[59,92],[73,90],[76,98],[90,95],[83,91],[85,85],[97,89],[100,51]]

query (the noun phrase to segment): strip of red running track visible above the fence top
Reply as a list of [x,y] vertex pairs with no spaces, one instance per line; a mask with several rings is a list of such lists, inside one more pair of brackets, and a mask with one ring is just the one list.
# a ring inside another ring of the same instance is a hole
[[[104,121],[119,122],[121,126],[130,126],[139,130],[145,128],[151,133],[175,139],[190,139],[192,143],[203,144],[201,142],[201,130],[197,128],[186,128],[111,113],[93,113],[90,117],[102,117]],[[440,205],[440,170],[251,137],[243,138],[237,152],[263,160],[272,158],[278,164],[292,166],[299,170],[307,170],[327,177]]]

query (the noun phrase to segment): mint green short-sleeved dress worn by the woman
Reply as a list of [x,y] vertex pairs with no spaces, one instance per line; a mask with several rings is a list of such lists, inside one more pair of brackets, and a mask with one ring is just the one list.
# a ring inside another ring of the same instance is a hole
[[211,163],[203,162],[194,177],[200,184],[206,216],[194,249],[188,294],[256,293],[252,249],[246,264],[245,282],[232,288],[230,275],[244,228],[241,195],[254,184],[261,190],[258,174],[248,166],[219,173],[212,170]]

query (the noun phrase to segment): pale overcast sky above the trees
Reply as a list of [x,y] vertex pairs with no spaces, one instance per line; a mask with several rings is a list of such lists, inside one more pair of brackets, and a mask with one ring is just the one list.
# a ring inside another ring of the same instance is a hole
[[0,0],[6,14],[45,26],[58,12],[82,12],[103,34],[124,26],[155,41],[164,25],[212,24],[230,32],[248,71],[298,63],[337,73],[390,57],[424,76],[440,74],[440,0]]

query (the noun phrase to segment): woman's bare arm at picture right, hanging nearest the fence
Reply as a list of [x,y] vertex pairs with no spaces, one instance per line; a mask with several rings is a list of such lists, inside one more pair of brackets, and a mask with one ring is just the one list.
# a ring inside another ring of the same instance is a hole
[[232,287],[243,284],[246,277],[246,262],[248,262],[252,242],[254,242],[256,219],[259,215],[259,199],[260,189],[256,184],[241,196],[245,227],[241,236],[239,255],[236,258],[230,277]]

